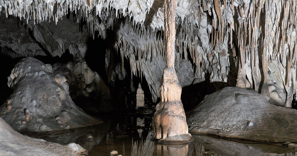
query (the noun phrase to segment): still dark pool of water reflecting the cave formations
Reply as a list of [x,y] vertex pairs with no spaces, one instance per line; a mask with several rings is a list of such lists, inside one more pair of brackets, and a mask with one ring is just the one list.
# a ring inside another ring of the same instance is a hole
[[[90,156],[108,156],[112,150],[118,151],[123,156],[171,156],[176,154],[184,156],[249,156],[297,151],[296,149],[290,149],[283,142],[261,143],[251,140],[218,138],[209,135],[193,135],[195,141],[189,145],[161,146],[150,139],[154,135],[153,131],[151,131],[153,114],[106,114],[98,117],[102,118],[105,123],[67,131],[25,133],[25,135],[59,144],[75,142],[88,149]],[[292,154],[296,155],[296,153]]]

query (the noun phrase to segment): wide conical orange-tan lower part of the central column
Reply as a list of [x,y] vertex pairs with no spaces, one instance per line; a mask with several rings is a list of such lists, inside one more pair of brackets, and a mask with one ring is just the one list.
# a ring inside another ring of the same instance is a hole
[[174,68],[165,67],[160,86],[161,102],[156,106],[153,129],[160,144],[187,144],[193,141],[181,102],[181,86]]

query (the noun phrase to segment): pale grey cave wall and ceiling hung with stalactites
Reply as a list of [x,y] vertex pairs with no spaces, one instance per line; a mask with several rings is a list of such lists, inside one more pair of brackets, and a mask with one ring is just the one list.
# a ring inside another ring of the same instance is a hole
[[[6,16],[27,21],[36,41],[52,56],[60,56],[67,48],[84,55],[85,35],[105,39],[108,30],[113,30],[115,38],[108,51],[121,60],[121,70],[116,72],[123,74],[124,58],[128,59],[131,73],[144,76],[156,102],[165,67],[163,3],[0,1],[0,8]],[[296,1],[179,0],[176,4],[176,70],[182,87],[222,82],[255,89],[272,103],[290,107],[296,92]],[[81,34],[65,34],[67,23],[58,19],[68,12],[74,13],[75,22],[86,22],[89,33],[81,29]],[[50,29],[64,38],[42,33]]]

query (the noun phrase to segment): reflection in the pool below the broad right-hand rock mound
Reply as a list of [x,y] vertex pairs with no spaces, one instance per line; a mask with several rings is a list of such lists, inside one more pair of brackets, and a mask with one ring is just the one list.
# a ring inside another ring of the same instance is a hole
[[[190,149],[201,156],[224,155],[224,156],[285,156],[292,155],[296,149],[282,147],[281,143],[267,144],[247,140],[225,140],[210,136],[193,135],[195,144],[190,144]],[[192,147],[195,146],[195,147]],[[287,153],[287,154],[283,154]],[[203,155],[204,154],[204,155]]]

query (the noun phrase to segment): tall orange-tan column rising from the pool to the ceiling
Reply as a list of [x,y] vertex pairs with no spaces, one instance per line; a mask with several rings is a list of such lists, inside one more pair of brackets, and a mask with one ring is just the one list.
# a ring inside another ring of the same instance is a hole
[[186,115],[181,102],[181,86],[174,69],[176,35],[175,8],[175,0],[165,0],[164,38],[166,67],[163,70],[162,85],[159,88],[161,102],[156,106],[152,125],[155,138],[165,144],[170,144],[172,141],[181,141],[181,143],[193,141],[191,134],[188,133]]

